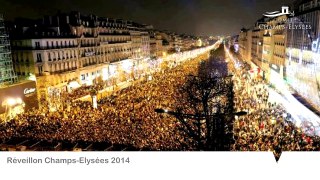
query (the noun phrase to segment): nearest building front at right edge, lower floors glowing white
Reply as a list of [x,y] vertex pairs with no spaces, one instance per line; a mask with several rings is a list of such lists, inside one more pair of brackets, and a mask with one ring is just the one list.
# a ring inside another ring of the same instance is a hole
[[287,29],[286,70],[287,83],[298,94],[320,107],[320,11],[311,11],[290,19],[290,27],[308,24],[310,29]]

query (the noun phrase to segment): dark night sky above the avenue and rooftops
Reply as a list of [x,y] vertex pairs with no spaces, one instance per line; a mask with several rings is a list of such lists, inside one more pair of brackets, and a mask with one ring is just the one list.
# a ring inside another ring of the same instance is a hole
[[35,18],[72,10],[194,35],[232,35],[293,0],[0,0],[0,13]]

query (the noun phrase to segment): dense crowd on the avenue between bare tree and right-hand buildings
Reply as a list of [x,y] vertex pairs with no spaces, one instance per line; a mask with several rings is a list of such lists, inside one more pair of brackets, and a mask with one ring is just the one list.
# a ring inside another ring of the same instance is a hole
[[309,136],[296,127],[292,117],[280,104],[270,102],[268,86],[262,78],[250,78],[248,65],[229,69],[236,73],[235,104],[237,110],[248,115],[238,117],[234,123],[235,151],[319,151],[320,138]]

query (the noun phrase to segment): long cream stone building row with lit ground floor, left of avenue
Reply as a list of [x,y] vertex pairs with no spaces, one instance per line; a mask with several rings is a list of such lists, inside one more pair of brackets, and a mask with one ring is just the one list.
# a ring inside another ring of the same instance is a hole
[[[70,91],[126,72],[119,62],[150,57],[150,37],[143,25],[79,12],[15,22],[11,27],[14,68],[35,77],[39,99],[50,89]],[[131,66],[134,63],[129,63]]]

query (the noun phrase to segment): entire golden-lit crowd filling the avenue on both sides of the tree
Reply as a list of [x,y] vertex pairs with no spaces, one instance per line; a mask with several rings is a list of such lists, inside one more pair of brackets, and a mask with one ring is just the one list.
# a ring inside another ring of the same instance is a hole
[[[109,142],[150,150],[195,150],[197,144],[181,131],[182,124],[172,116],[157,114],[155,109],[176,108],[179,87],[188,75],[197,73],[203,57],[156,72],[152,80],[101,98],[98,108],[93,108],[91,102],[70,101],[68,108],[54,112],[45,108],[25,112],[0,123],[0,137]],[[231,150],[320,150],[319,137],[307,136],[291,123],[281,105],[268,101],[268,87],[263,80],[248,79],[244,66],[237,69],[232,61],[228,63],[228,71],[234,74],[235,108],[248,112],[235,120],[235,144]],[[89,91],[90,88],[81,88],[66,96],[72,100]]]

